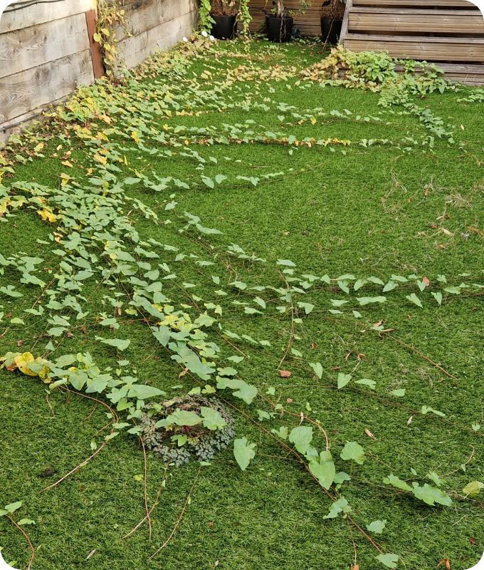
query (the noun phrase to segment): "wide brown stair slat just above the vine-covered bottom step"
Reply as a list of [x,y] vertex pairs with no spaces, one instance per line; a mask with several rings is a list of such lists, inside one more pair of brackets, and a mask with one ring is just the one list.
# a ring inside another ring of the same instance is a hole
[[484,38],[375,36],[349,33],[344,47],[352,51],[389,51],[396,58],[426,61],[484,62]]

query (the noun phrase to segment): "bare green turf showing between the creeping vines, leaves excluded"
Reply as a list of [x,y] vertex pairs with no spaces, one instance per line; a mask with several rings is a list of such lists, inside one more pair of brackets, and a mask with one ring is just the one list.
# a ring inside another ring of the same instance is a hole
[[[249,66],[252,62],[255,68],[295,66],[300,70],[322,57],[318,49],[268,46],[265,42],[246,48],[227,43],[220,53],[209,51],[195,58],[184,78],[177,78],[179,84],[174,81],[173,91],[181,93],[183,86],[193,84],[194,74],[200,76],[204,69],[214,73],[213,79],[201,80],[201,88],[207,91],[223,83],[229,68],[242,64]],[[219,111],[204,103],[195,110],[207,113],[150,118],[151,124],[160,129],[165,123],[170,127],[222,128],[225,123],[235,125],[250,119],[255,121],[251,128],[261,133],[275,130],[300,139],[349,139],[352,145],[345,147],[344,154],[338,145],[298,147],[292,155],[287,146],[257,142],[189,145],[208,161],[201,172],[196,170],[197,162],[189,157],[150,156],[142,153],[129,135],[124,140],[114,135],[112,140],[122,140],[128,161],[127,167],[118,165],[122,169],[121,179],[138,170],[149,177],[152,172],[161,177],[177,177],[190,185],[190,190],[173,190],[179,202],[173,214],[164,212],[171,191],[149,192],[141,185],[127,187],[131,197],[154,208],[160,217],[160,223],[154,224],[132,214],[140,237],[153,237],[179,247],[185,254],[212,259],[198,239],[178,232],[182,212],[196,214],[204,226],[223,232],[221,236],[210,236],[214,252],[224,252],[233,242],[268,260],[266,264],[233,261],[231,270],[250,285],[279,286],[276,259],[293,260],[300,273],[329,274],[332,278],[345,273],[377,275],[382,279],[393,273],[416,273],[428,276],[431,286],[437,286],[436,276],[445,274],[453,284],[463,280],[482,284],[483,234],[476,229],[484,230],[483,104],[458,102],[466,90],[433,94],[417,101],[447,124],[456,125],[456,143],[449,145],[445,140],[437,140],[434,152],[419,144],[406,151],[406,145],[399,141],[408,135],[421,142],[426,136],[414,116],[402,113],[398,107],[391,112],[382,110],[376,93],[322,88],[308,82],[298,86],[297,80],[298,76],[285,81],[236,81],[226,87],[221,100],[240,101],[251,94],[251,105],[246,110]],[[147,89],[150,84],[147,78]],[[155,87],[151,93],[156,96]],[[269,110],[253,105],[264,100]],[[295,105],[298,113],[314,108],[327,112],[347,109],[354,115],[382,118],[382,123],[330,118],[316,125],[287,125],[295,120],[288,113],[282,113],[286,115],[282,122],[278,119],[281,112],[277,105],[281,102]],[[135,119],[139,116],[133,111]],[[129,133],[131,128],[126,131]],[[157,146],[153,140],[148,144],[148,138],[146,135],[148,147]],[[372,138],[387,138],[394,144],[369,148],[358,144]],[[72,145],[72,170],[61,165],[60,157],[53,156],[58,144],[63,145],[59,156]],[[89,147],[82,140],[73,137],[66,143],[51,138],[47,149],[44,158],[17,166],[14,177],[4,179],[4,184],[35,180],[57,187],[60,172],[76,175],[82,182],[83,168],[95,167]],[[177,152],[179,148],[173,150]],[[210,156],[216,157],[218,163],[210,162]],[[274,172],[284,174],[257,187],[236,180],[237,175],[260,177]],[[218,173],[228,177],[223,184],[209,189],[200,183],[201,174],[214,177]],[[167,218],[173,223],[162,224]],[[5,257],[22,251],[42,257],[41,267],[56,267],[56,256],[48,251],[48,246],[36,241],[48,239],[52,227],[32,209],[4,219],[0,236]],[[211,275],[220,276],[221,288],[227,290],[235,275],[219,262],[224,259],[223,253],[214,258],[216,265],[209,267],[198,267],[191,261],[174,264],[174,255],[167,252],[166,259],[160,261],[176,268],[177,281],[196,284],[196,289],[188,291],[204,301],[221,302],[214,296],[214,289],[219,287],[214,288]],[[464,273],[470,276],[461,277]],[[2,285],[14,284],[24,294],[21,302],[1,299],[4,327],[8,329],[0,338],[1,353],[31,350],[36,356],[42,354],[48,341],[43,336],[48,328],[46,320],[22,314],[24,308],[33,304],[38,289],[19,284],[19,274],[11,269],[1,280]],[[386,519],[384,534],[375,538],[384,551],[401,557],[399,568],[435,569],[441,559],[448,558],[453,570],[463,570],[478,561],[484,543],[482,501],[479,497],[456,497],[462,496],[465,484],[483,479],[483,430],[474,432],[470,427],[475,422],[484,423],[482,296],[446,296],[441,307],[427,299],[423,309],[419,309],[406,301],[408,292],[392,291],[384,306],[369,306],[361,311],[366,323],[383,320],[386,328],[395,329],[392,334],[396,338],[414,346],[419,353],[391,338],[379,338],[365,323],[328,314],[329,299],[344,298],[336,288],[323,291],[325,304],[321,301],[315,312],[296,326],[299,339],[294,346],[304,356],[285,361],[283,368],[292,372],[290,378],[280,378],[276,371],[290,335],[287,317],[275,309],[255,318],[245,315],[231,304],[236,299],[234,294],[221,303],[221,321],[231,331],[271,342],[270,348],[263,349],[240,345],[250,357],[237,365],[241,378],[255,384],[262,393],[275,386],[278,401],[293,413],[306,413],[309,405],[312,411],[308,414],[321,420],[330,435],[338,470],[352,475],[342,492],[352,506],[354,519],[362,527],[375,519]],[[75,328],[72,338],[63,338],[53,358],[90,351],[100,368],[116,367],[115,361],[128,358],[144,382],[166,390],[170,396],[189,390],[193,380],[189,376],[178,378],[180,368],[174,367],[169,354],[160,350],[140,321],[120,319],[116,336],[131,340],[122,356],[95,341],[95,335],[107,336],[93,323],[93,317],[99,311],[112,312],[109,306],[102,305],[102,295],[109,293],[107,287],[85,284],[85,310],[91,311],[85,330]],[[366,289],[359,293],[372,294]],[[176,287],[170,289],[170,294],[177,302],[187,302],[186,295]],[[270,292],[266,296],[269,298]],[[354,294],[352,297],[351,305],[357,308]],[[246,298],[241,294],[240,299]],[[314,299],[317,297],[313,298],[317,304]],[[9,316],[22,316],[26,326],[10,327]],[[223,356],[234,353],[215,330],[211,340],[223,345]],[[19,341],[22,348],[17,348]],[[358,354],[363,355],[361,362]],[[454,378],[420,355],[443,366]],[[312,377],[308,361],[322,363],[322,380]],[[377,389],[371,392],[351,384],[336,390],[337,371],[354,371],[355,378],[372,378],[377,381]],[[176,388],[181,384],[183,389]],[[392,397],[390,391],[395,388],[405,388],[405,397]],[[354,563],[354,548],[361,569],[380,567],[374,559],[377,552],[362,534],[350,529],[346,520],[322,518],[328,512],[330,499],[307,472],[290,456],[285,457],[285,450],[265,435],[257,422],[251,423],[240,414],[236,414],[238,437],[246,435],[257,443],[256,460],[248,470],[238,469],[231,450],[224,451],[212,465],[200,471],[198,465],[191,463],[167,473],[159,460],[149,457],[149,504],[154,502],[163,478],[167,478],[152,515],[152,541],[146,525],[132,537],[122,539],[144,517],[142,482],[134,478],[144,469],[136,438],[121,434],[63,484],[42,492],[55,479],[44,480],[38,475],[46,467],[55,467],[60,477],[78,465],[90,455],[91,440],[102,440],[98,432],[107,421],[105,410],[99,405],[93,408],[84,398],[73,394],[66,397],[57,391],[48,400],[46,396],[46,385],[37,379],[1,371],[0,402],[4,413],[0,427],[0,505],[22,500],[21,516],[35,519],[35,527],[26,529],[36,546],[36,570],[346,570]],[[257,418],[255,409],[263,406],[259,402],[247,408],[240,400],[230,401],[253,418]],[[421,405],[442,410],[446,418],[419,414]],[[411,416],[413,420],[408,423]],[[277,429],[280,425],[296,425],[296,421],[287,416],[275,417],[263,425]],[[365,435],[365,428],[376,440]],[[356,440],[364,446],[364,465],[350,466],[339,459],[346,440]],[[427,507],[382,483],[382,478],[390,473],[410,479],[411,469],[416,470],[415,478],[422,482],[430,471],[443,477],[444,488],[456,497],[454,506]],[[177,524],[197,473],[191,502],[172,540],[149,562],[149,556]],[[26,567],[28,551],[21,534],[6,519],[0,519],[0,532],[4,559],[16,561],[16,567]]]

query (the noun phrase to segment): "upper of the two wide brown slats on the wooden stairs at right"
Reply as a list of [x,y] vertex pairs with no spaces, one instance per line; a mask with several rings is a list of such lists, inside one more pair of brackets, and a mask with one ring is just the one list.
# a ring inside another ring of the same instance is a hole
[[[364,11],[363,11],[364,10]],[[484,19],[479,11],[433,11],[353,9],[349,13],[349,31],[416,33],[484,33]]]

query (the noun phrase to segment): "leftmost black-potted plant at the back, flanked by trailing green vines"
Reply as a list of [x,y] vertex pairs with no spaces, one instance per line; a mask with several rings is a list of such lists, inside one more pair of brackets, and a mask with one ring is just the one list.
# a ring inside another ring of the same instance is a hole
[[248,3],[249,0],[201,0],[201,29],[219,40],[232,39],[237,33],[237,21],[241,21],[243,33],[247,33],[251,22]]

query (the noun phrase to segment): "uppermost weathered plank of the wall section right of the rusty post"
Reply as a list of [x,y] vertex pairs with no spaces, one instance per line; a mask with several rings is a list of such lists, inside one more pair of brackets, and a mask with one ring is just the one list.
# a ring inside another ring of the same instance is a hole
[[144,0],[135,1],[125,6],[126,26],[118,26],[116,36],[118,39],[125,38],[128,31],[132,36],[137,36],[144,31],[163,24],[169,20],[188,14],[194,9],[193,0]]

